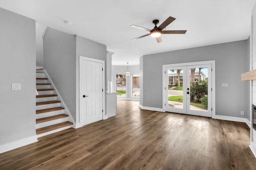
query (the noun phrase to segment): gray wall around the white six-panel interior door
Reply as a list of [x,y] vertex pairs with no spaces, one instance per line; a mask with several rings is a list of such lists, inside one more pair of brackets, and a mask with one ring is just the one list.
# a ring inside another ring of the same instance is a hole
[[[107,47],[90,39],[76,35],[76,109],[79,111],[79,56],[90,57],[93,59],[105,61],[105,114],[106,114],[106,64],[107,64]],[[74,117],[76,118],[76,117]]]

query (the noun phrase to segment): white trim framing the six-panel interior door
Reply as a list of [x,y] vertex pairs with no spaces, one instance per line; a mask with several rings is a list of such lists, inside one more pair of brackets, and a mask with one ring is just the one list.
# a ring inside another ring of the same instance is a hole
[[[103,88],[103,100],[102,100],[103,104],[102,104],[102,108],[103,108],[103,117],[102,117],[102,119],[103,120],[107,119],[108,117],[107,117],[107,115],[105,115],[105,112],[106,112],[106,110],[105,110],[105,61],[98,60],[98,59],[93,59],[93,58],[89,58],[89,57],[84,57],[84,56],[79,56],[79,95],[81,95],[80,94],[80,85],[81,85],[81,81],[80,80],[81,80],[81,76],[82,76],[80,74],[80,72],[82,71],[81,66],[80,66],[80,64],[81,64],[80,61],[81,60],[102,63],[102,68],[103,68],[103,71],[102,71],[102,88]],[[80,98],[79,98],[79,123],[83,123],[83,120],[82,120],[83,116],[82,116],[82,112],[81,112],[81,106],[82,106],[82,101],[80,101]],[[83,125],[80,124],[80,126],[83,126]]]

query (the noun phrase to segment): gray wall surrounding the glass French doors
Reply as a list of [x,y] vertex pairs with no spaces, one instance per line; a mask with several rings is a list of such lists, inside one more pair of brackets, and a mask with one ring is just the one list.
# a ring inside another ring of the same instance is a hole
[[[247,40],[243,40],[143,56],[140,60],[143,102],[140,104],[162,108],[163,64],[215,60],[216,115],[247,118],[249,82],[241,81],[241,74],[250,70],[247,45]],[[228,87],[222,87],[222,83],[228,83]],[[240,111],[245,115],[240,115]]]

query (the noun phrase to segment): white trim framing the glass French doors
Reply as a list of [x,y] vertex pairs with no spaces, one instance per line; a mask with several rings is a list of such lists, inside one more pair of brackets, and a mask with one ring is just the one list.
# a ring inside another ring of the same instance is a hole
[[[215,60],[210,60],[210,61],[198,61],[198,62],[191,62],[191,63],[176,63],[176,64],[164,64],[162,67],[162,108],[163,111],[165,112],[165,98],[166,98],[166,93],[165,89],[168,89],[166,87],[166,78],[165,78],[165,70],[167,67],[176,67],[176,66],[193,66],[193,65],[202,65],[202,64],[212,64],[212,117],[215,117],[216,115],[216,108],[215,108]],[[168,74],[168,73],[167,73]]]

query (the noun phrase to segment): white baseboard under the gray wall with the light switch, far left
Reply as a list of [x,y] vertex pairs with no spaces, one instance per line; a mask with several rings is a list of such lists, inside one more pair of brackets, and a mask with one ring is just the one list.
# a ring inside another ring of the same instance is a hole
[[0,145],[0,154],[35,142],[38,142],[36,135]]

